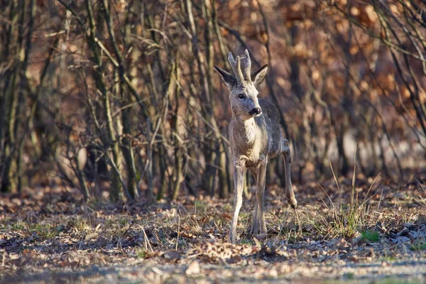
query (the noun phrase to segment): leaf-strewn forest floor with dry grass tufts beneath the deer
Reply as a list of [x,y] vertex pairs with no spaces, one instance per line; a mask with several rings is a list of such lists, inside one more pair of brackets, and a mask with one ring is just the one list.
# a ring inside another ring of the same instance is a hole
[[248,234],[253,195],[235,245],[231,200],[113,206],[26,189],[0,197],[0,283],[424,283],[426,175],[415,178],[296,185],[296,211],[269,185],[268,235]]

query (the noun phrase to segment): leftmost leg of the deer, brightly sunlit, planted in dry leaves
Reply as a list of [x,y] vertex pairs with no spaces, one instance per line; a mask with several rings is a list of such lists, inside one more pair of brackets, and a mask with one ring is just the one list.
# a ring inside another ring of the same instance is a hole
[[236,225],[238,224],[239,210],[243,203],[244,176],[246,173],[244,161],[234,163],[234,215],[232,216],[231,228],[229,228],[229,241],[236,242]]

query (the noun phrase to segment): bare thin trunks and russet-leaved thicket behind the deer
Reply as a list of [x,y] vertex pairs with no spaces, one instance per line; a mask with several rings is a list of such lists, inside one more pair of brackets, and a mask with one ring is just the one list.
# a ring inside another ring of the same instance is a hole
[[[248,49],[302,184],[424,169],[424,1],[1,0],[0,190],[227,198],[228,94]],[[357,153],[355,154],[355,148]],[[283,182],[283,160],[268,182]],[[248,183],[250,180],[248,179]],[[282,183],[281,183],[282,184]],[[249,195],[249,192],[246,192]]]

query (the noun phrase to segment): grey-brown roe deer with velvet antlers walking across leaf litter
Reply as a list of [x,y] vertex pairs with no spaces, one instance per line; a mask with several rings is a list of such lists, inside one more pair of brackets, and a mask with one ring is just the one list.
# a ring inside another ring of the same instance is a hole
[[[240,58],[229,53],[228,60],[234,75],[214,66],[222,82],[229,89],[232,119],[229,123],[229,142],[231,144],[232,160],[234,163],[234,215],[229,229],[229,241],[236,242],[236,224],[239,210],[243,202],[243,187],[246,170],[253,173],[256,180],[256,212],[253,217],[251,234],[266,234],[265,223],[265,182],[266,165],[270,158],[283,154],[285,160],[285,190],[288,203],[297,207],[297,201],[291,185],[290,163],[291,154],[288,140],[280,131],[278,109],[263,99],[258,99],[256,89],[266,77],[268,65],[251,74],[249,51]],[[241,63],[243,70],[241,70]]]

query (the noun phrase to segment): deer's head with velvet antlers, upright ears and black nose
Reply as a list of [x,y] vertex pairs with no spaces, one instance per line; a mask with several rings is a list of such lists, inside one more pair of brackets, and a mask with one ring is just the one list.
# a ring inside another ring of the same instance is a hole
[[[234,59],[232,53],[228,55],[229,64],[234,70],[234,75],[214,66],[219,73],[222,82],[229,89],[229,101],[231,102],[232,115],[243,120],[251,119],[262,114],[258,102],[257,87],[266,77],[268,65],[251,74],[251,60],[249,51],[245,51],[245,57]],[[241,70],[242,65],[242,70]]]

